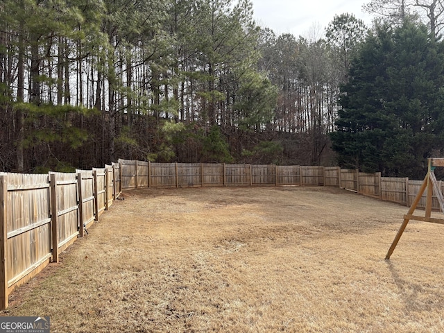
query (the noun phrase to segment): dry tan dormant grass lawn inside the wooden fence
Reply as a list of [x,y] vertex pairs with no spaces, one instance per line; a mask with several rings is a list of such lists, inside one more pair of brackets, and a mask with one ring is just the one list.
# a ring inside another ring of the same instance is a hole
[[[15,291],[51,332],[443,332],[443,225],[339,189],[144,189]],[[422,213],[423,214],[423,213]]]

